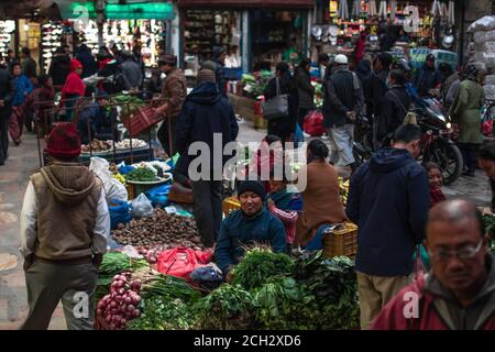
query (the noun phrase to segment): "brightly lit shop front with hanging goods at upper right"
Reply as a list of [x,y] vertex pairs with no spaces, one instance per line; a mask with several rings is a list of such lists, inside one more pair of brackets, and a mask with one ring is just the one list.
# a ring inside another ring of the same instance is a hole
[[[416,48],[455,51],[463,33],[454,28],[458,1],[349,1],[319,2],[311,26],[311,57],[319,53],[346,54],[351,58],[364,44],[364,53],[392,52],[409,56]],[[411,21],[413,18],[417,22]],[[361,33],[366,36],[360,42]],[[360,57],[359,57],[360,58]]]

